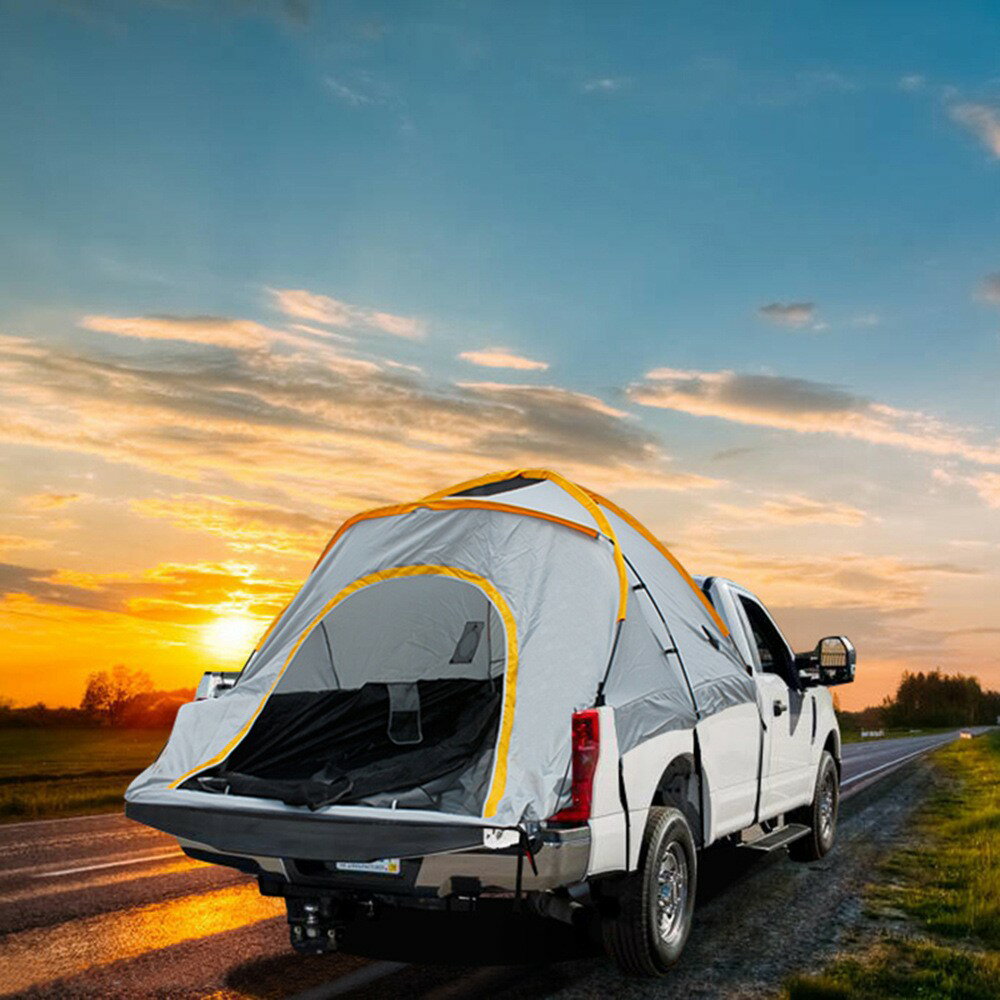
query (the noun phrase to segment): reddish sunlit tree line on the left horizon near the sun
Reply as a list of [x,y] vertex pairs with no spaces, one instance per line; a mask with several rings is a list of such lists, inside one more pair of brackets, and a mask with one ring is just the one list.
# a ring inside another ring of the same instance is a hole
[[78,708],[50,708],[42,702],[17,708],[0,698],[0,726],[161,728],[172,726],[177,710],[193,697],[193,688],[159,691],[144,670],[118,664],[87,677]]

